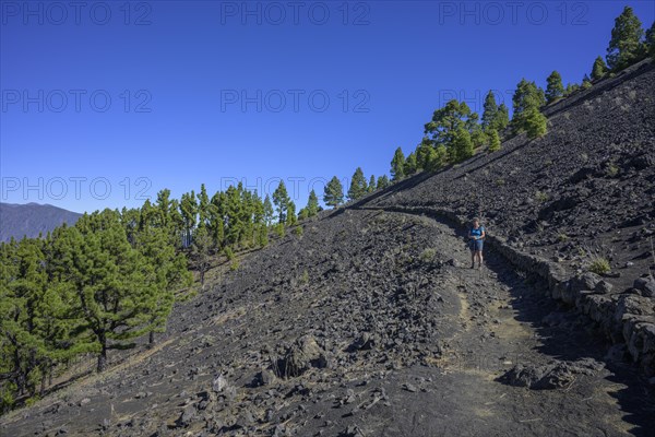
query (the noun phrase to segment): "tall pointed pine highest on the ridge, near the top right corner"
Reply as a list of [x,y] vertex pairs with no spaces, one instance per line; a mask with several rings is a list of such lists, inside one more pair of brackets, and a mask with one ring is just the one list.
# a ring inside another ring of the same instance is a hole
[[630,7],[615,20],[611,39],[607,47],[607,64],[612,71],[619,71],[643,59],[645,47],[642,43],[644,29],[641,21]]

